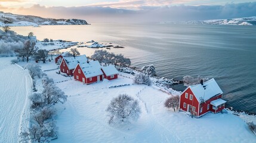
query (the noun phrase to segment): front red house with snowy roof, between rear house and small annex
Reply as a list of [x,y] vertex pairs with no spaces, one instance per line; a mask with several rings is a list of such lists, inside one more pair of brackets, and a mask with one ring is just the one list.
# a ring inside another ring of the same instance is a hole
[[74,79],[87,85],[102,81],[104,75],[101,71],[100,63],[98,61],[90,61],[77,64],[74,70]]

